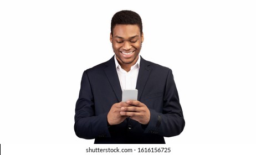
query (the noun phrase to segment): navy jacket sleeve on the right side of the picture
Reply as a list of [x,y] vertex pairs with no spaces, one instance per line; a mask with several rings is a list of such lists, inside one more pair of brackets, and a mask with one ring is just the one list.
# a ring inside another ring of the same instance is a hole
[[150,109],[150,122],[145,132],[164,137],[180,135],[185,127],[185,120],[171,69],[168,71],[162,104],[162,113]]

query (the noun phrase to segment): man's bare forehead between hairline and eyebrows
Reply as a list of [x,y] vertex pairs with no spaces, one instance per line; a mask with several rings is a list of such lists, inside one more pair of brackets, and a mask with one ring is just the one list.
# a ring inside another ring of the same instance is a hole
[[124,25],[117,24],[113,29],[114,37],[117,35],[119,37],[131,37],[135,35],[140,36],[140,28],[138,25]]

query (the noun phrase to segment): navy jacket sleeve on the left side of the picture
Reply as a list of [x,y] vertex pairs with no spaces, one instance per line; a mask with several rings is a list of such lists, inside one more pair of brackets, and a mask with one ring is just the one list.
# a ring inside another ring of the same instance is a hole
[[74,130],[76,136],[85,139],[110,137],[107,113],[95,116],[94,96],[86,71],[81,79],[79,98],[76,101]]

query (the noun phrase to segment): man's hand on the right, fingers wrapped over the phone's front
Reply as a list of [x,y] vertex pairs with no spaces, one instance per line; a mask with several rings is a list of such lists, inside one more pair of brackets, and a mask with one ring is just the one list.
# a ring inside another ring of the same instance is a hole
[[129,116],[132,120],[140,122],[142,125],[147,125],[150,121],[150,110],[145,104],[140,101],[126,101],[129,106],[122,106],[120,115]]

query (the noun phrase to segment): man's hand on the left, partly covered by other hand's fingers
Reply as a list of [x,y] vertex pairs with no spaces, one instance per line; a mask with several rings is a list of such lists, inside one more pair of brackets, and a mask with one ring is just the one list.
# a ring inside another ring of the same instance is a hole
[[125,102],[119,102],[114,105],[109,110],[109,113],[107,113],[107,123],[109,125],[118,125],[121,122],[125,120],[128,116],[120,115],[121,107],[124,106],[130,106],[129,104],[126,104]]

